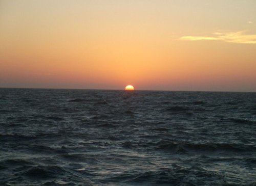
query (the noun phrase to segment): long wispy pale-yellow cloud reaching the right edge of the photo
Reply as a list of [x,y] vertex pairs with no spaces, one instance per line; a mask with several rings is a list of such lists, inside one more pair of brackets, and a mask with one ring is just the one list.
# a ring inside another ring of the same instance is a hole
[[245,31],[221,33],[216,32],[214,36],[183,36],[180,40],[200,41],[200,40],[220,40],[229,43],[256,44],[256,34],[245,34]]

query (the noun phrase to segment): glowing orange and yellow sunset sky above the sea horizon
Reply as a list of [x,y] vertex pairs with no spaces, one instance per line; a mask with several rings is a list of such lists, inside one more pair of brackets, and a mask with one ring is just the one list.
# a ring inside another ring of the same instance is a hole
[[0,87],[256,92],[255,0],[0,0]]

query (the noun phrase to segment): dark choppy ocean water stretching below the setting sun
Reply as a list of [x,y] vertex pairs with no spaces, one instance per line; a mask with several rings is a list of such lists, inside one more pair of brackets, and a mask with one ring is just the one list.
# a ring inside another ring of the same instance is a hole
[[256,185],[256,93],[0,89],[0,185]]

